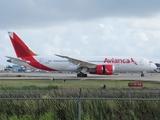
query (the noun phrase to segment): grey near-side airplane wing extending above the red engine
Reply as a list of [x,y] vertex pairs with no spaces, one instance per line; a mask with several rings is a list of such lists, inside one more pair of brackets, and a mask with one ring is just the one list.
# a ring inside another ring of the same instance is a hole
[[63,56],[63,55],[58,55],[58,54],[55,54],[55,55],[59,56],[59,57],[62,57],[62,58],[66,58],[66,59],[69,60],[69,62],[71,62],[75,65],[78,65],[79,67],[95,68],[95,66],[96,66],[96,64],[91,63],[91,62],[87,62],[87,61],[84,61],[84,60],[79,60],[79,59],[76,59],[76,58]]

